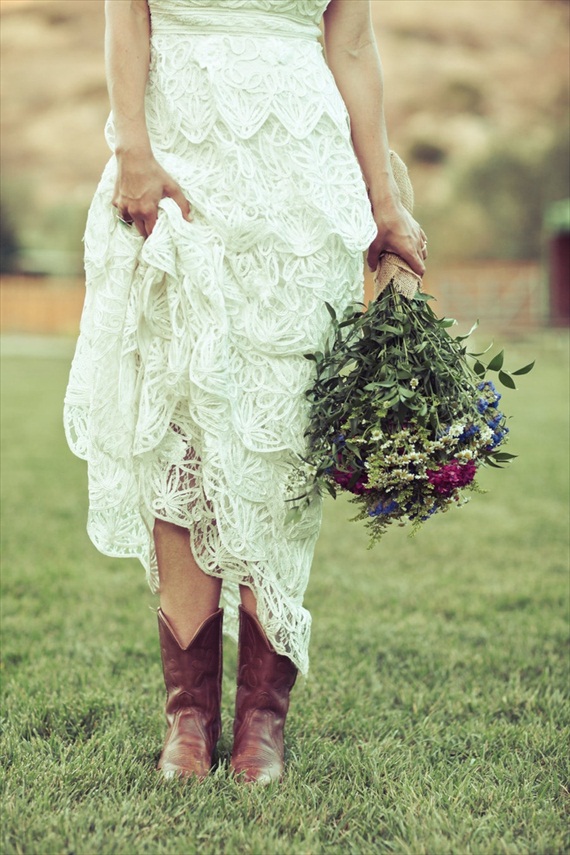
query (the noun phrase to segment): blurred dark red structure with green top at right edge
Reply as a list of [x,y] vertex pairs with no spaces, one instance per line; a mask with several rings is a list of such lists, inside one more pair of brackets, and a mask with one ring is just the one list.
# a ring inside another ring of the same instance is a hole
[[546,212],[550,323],[570,326],[570,199],[554,202]]

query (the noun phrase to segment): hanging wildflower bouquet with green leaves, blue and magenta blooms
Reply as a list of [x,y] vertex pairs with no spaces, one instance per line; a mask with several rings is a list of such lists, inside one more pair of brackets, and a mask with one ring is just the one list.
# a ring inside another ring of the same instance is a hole
[[372,545],[393,522],[416,530],[438,511],[478,491],[480,466],[501,468],[509,429],[501,395],[487,378],[515,388],[501,351],[487,364],[468,353],[455,321],[438,318],[428,294],[411,297],[390,283],[365,312],[333,323],[330,347],[306,354],[316,362],[308,454],[290,489],[294,518],[315,493],[338,490],[359,506]]

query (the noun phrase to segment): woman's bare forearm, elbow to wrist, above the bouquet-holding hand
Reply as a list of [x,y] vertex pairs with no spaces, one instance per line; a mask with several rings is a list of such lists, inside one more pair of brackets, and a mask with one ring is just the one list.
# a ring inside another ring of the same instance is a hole
[[327,55],[350,116],[352,141],[372,204],[398,197],[384,119],[382,66],[374,38]]

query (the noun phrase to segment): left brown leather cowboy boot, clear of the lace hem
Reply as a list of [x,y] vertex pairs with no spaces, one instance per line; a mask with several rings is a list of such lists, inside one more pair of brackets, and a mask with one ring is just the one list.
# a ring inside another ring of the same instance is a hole
[[222,617],[218,609],[181,647],[158,609],[168,723],[158,768],[165,778],[204,778],[210,771],[221,731]]

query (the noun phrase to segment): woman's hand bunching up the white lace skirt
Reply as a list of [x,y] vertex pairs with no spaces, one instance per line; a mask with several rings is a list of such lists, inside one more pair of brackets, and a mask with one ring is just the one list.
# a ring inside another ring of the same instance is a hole
[[174,199],[182,216],[191,222],[191,206],[180,186],[154,159],[152,154],[117,154],[117,180],[113,205],[119,217],[134,223],[142,237],[152,232],[158,217],[158,203]]

